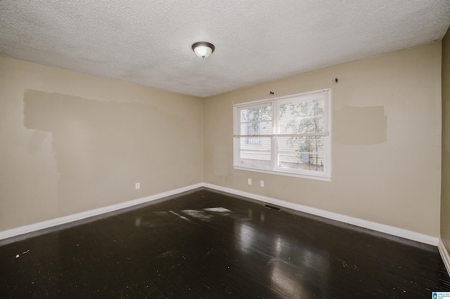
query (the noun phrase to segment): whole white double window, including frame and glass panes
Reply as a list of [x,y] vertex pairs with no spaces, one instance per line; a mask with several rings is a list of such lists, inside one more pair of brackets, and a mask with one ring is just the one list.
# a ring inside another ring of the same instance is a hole
[[330,180],[330,90],[233,106],[234,168]]

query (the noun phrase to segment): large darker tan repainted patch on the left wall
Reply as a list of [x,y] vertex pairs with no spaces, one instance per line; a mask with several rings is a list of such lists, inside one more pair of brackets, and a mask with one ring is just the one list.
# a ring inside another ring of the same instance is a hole
[[[191,159],[183,145],[195,132],[169,109],[33,90],[24,103],[25,127],[51,133],[60,215],[158,192],[167,173]],[[49,133],[30,138],[30,151]]]

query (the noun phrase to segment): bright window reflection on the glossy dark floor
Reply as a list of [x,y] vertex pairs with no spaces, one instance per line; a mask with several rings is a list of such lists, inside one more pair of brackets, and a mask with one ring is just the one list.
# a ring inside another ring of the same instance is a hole
[[[249,210],[248,215],[253,212]],[[258,219],[258,215],[256,217]],[[275,224],[271,220],[264,211],[259,211],[259,221],[236,219],[234,234],[238,251],[248,258],[265,258],[264,267],[269,268],[267,281],[279,298],[311,298],[326,293],[329,254],[289,234],[267,230],[266,225],[273,227]]]

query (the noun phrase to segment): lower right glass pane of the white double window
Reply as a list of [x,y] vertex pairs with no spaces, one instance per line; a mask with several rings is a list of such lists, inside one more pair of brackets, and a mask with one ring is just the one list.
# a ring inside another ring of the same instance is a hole
[[278,138],[278,168],[323,171],[324,137]]

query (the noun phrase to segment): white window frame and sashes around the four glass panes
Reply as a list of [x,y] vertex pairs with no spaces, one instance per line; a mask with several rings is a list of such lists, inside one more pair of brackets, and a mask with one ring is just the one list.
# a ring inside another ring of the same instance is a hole
[[[279,105],[288,102],[296,102],[309,100],[312,96],[323,95],[325,98],[325,133],[322,134],[314,134],[314,135],[323,135],[324,137],[324,163],[323,163],[323,171],[309,171],[307,169],[293,169],[293,168],[278,168],[278,138],[283,136],[304,136],[304,134],[290,134],[283,135],[278,132],[278,118],[279,118]],[[328,98],[328,100],[327,100]],[[243,109],[249,109],[254,107],[261,106],[271,106],[272,109],[272,119],[271,119],[271,134],[265,135],[240,135],[240,112]],[[271,166],[270,168],[251,166],[251,165],[243,165],[240,164],[240,138],[248,138],[248,137],[259,137],[259,138],[270,138],[271,139]],[[266,100],[257,100],[252,102],[244,102],[240,104],[233,105],[233,168],[245,170],[245,171],[256,171],[261,173],[271,173],[276,175],[288,175],[296,178],[309,178],[313,180],[331,180],[331,89],[321,89],[319,91],[311,91],[307,93],[298,93],[295,95],[288,95],[285,97],[279,98],[271,98]]]

